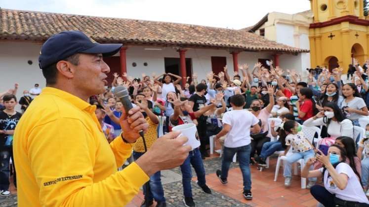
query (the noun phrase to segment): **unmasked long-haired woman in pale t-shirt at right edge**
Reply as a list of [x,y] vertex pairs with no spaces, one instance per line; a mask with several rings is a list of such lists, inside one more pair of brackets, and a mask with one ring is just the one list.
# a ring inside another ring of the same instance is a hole
[[360,126],[359,118],[362,116],[368,116],[367,104],[361,98],[357,87],[353,83],[346,83],[342,87],[342,95],[344,101],[341,108],[346,117],[350,119],[355,126]]

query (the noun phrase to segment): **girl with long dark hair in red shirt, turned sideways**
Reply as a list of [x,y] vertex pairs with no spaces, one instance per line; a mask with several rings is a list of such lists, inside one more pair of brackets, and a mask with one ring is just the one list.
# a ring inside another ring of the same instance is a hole
[[318,109],[315,105],[313,91],[310,88],[301,88],[298,92],[298,101],[296,102],[298,118],[305,121],[317,114]]

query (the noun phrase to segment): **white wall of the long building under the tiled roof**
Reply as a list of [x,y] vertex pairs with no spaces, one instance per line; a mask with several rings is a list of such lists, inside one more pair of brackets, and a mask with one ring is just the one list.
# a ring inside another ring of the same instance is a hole
[[[0,42],[0,91],[14,87],[14,83],[19,83],[17,97],[20,98],[24,90],[31,89],[35,83],[45,87],[45,80],[38,65],[40,54],[40,43],[31,42]],[[160,75],[164,72],[164,57],[179,58],[179,53],[173,48],[162,48],[161,51],[145,50],[147,47],[128,47],[127,73],[133,77],[141,77],[142,73],[152,75],[155,72]],[[152,48],[152,47],[150,47]],[[117,54],[119,55],[119,54]],[[192,70],[198,74],[199,80],[204,79],[206,73],[211,71],[211,56],[222,56],[227,58],[227,66],[230,75],[233,75],[233,58],[226,50],[214,49],[188,49],[186,58],[192,59]],[[282,68],[298,68],[301,64],[299,56],[281,55],[280,63]],[[247,63],[250,69],[258,59],[272,59],[269,52],[241,52],[238,56],[239,64]],[[27,62],[31,60],[32,65]],[[136,67],[132,63],[137,64]],[[147,67],[143,63],[148,63]]]

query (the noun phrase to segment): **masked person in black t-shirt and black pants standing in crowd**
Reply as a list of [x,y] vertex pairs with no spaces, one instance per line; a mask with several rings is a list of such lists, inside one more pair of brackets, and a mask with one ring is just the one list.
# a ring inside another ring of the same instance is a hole
[[[199,83],[196,86],[196,93],[192,95],[189,99],[189,104],[192,106],[193,111],[198,111],[200,108],[206,106],[206,89],[207,86],[204,83]],[[208,138],[206,136],[206,119],[207,117],[201,115],[198,119],[197,131],[200,137],[200,152],[202,154],[202,158],[209,157],[209,154],[206,152],[206,144],[208,143]]]

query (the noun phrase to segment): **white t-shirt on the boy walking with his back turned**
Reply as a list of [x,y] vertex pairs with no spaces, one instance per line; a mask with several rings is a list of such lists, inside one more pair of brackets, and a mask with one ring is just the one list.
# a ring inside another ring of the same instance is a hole
[[222,122],[232,127],[224,140],[224,146],[236,148],[251,142],[250,128],[258,124],[259,120],[247,110],[233,110],[223,115]]

